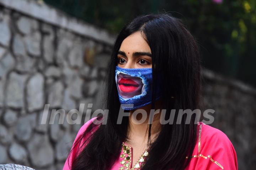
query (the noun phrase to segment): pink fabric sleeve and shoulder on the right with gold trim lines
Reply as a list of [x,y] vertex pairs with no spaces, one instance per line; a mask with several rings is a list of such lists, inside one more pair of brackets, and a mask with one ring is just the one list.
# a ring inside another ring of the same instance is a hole
[[209,125],[202,126],[201,148],[195,169],[238,170],[235,149],[225,133]]

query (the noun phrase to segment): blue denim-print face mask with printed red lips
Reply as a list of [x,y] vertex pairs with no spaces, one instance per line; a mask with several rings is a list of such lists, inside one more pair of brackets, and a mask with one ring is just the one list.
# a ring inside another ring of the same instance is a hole
[[[116,66],[116,84],[121,104],[133,104],[133,107],[123,106],[124,110],[133,110],[152,102],[152,68],[121,68]],[[160,98],[160,90],[156,90],[156,100]]]

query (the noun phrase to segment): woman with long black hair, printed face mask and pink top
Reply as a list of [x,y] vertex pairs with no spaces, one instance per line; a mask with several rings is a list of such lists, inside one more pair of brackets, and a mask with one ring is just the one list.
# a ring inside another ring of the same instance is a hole
[[[93,118],[81,127],[63,169],[238,169],[223,132],[195,124],[195,114],[187,124],[187,114],[171,112],[200,108],[200,71],[196,41],[177,18],[145,15],[128,23],[108,66],[107,123],[94,124]],[[150,116],[150,109],[161,114]]]

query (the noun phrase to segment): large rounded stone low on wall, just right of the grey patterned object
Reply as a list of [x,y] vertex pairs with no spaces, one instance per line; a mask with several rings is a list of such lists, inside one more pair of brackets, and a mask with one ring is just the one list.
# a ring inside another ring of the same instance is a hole
[[44,168],[54,163],[54,151],[47,135],[35,133],[27,148],[33,166]]

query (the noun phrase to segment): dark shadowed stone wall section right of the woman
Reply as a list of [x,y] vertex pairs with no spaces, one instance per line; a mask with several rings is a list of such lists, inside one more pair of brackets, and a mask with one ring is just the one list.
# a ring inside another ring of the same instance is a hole
[[233,143],[240,170],[256,169],[256,90],[246,84],[203,71],[204,103],[214,109],[211,126]]

